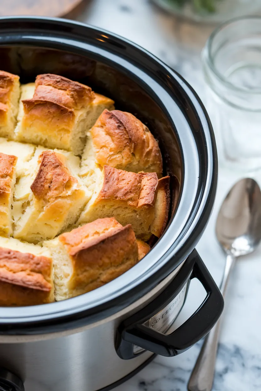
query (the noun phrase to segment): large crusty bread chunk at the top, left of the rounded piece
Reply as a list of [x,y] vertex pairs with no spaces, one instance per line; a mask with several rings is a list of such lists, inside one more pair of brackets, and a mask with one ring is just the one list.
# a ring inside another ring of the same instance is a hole
[[38,75],[35,83],[21,90],[16,140],[75,155],[81,154],[86,131],[104,107],[113,107],[111,99],[95,96],[90,87],[58,75]]

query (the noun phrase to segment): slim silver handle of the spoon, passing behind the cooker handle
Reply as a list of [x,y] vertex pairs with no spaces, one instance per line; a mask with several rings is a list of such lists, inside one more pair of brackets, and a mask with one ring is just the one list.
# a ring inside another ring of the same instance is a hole
[[[234,256],[227,255],[224,275],[220,287],[223,297],[225,296],[227,282],[235,261],[236,258]],[[205,337],[205,341],[189,379],[187,386],[189,391],[211,391],[212,389],[220,334],[220,319]]]

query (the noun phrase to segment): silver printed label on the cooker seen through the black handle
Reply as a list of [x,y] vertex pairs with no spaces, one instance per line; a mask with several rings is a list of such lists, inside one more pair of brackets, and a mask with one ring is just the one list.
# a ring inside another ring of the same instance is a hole
[[[166,333],[170,326],[175,321],[182,305],[184,304],[185,294],[187,290],[187,284],[184,285],[179,294],[158,314],[149,319],[146,323],[146,326],[153,328],[161,333]],[[140,346],[133,345],[133,353],[138,354],[144,352],[145,349],[140,348]]]

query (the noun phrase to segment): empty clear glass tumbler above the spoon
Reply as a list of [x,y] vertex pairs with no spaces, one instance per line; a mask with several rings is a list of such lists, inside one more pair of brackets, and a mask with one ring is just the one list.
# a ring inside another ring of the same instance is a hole
[[221,163],[261,168],[261,18],[218,27],[202,52],[210,89],[206,106],[220,143]]

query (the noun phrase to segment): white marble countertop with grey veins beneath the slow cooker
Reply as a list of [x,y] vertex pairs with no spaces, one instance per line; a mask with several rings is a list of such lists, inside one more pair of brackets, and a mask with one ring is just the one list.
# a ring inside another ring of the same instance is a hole
[[[78,17],[146,48],[182,74],[205,100],[200,52],[213,27],[179,21],[149,0],[93,0]],[[197,250],[217,283],[225,256],[214,235],[216,214],[230,186],[242,173],[219,171],[218,192],[211,220]],[[261,174],[257,174],[259,183]],[[180,315],[187,318],[202,301],[193,283]],[[238,261],[229,284],[221,330],[214,391],[261,389],[261,247]],[[201,343],[173,358],[157,357],[115,391],[185,391]]]

